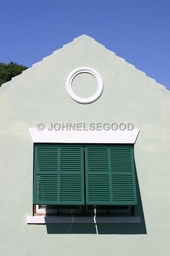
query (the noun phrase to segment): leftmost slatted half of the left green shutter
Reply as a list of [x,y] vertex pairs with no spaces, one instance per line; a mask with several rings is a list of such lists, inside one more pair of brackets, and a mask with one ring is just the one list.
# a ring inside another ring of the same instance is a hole
[[33,204],[57,204],[58,191],[58,147],[35,146]]

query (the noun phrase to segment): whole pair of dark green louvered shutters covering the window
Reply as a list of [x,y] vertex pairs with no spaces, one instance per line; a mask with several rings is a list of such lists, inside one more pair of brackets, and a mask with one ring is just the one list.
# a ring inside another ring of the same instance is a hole
[[[85,146],[86,204],[137,204],[133,146]],[[82,145],[35,145],[33,204],[85,204]]]

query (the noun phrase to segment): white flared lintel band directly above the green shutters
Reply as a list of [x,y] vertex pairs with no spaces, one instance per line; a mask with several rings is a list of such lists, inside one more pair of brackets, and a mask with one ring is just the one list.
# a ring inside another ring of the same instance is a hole
[[34,143],[115,143],[135,144],[139,129],[132,131],[49,131],[45,128],[39,131],[37,128],[29,128]]

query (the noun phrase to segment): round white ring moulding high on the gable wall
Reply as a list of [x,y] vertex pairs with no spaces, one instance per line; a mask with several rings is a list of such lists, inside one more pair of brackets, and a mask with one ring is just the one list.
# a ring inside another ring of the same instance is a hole
[[[75,78],[75,76],[77,76],[80,73],[89,73],[93,75],[98,81],[98,88],[96,90],[96,93],[94,93],[94,95],[89,98],[81,98],[77,96],[72,90],[72,81]],[[79,67],[73,70],[68,76],[66,81],[66,88],[67,88],[68,94],[72,99],[74,99],[74,101],[82,104],[88,104],[88,103],[95,102],[101,96],[103,91],[103,81],[102,81],[102,77],[99,75],[99,73],[96,70],[90,67]]]

